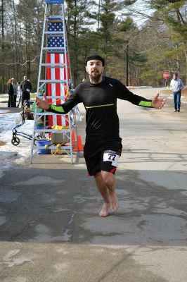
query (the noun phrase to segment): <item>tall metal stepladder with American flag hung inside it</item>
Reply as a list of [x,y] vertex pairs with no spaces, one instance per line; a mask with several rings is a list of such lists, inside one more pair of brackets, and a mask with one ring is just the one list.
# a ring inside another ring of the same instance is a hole
[[[64,1],[46,0],[37,95],[41,96],[42,99],[42,95],[45,93],[49,104],[63,104],[70,95],[70,82],[70,61],[67,47]],[[58,115],[41,111],[41,109],[37,109],[35,106],[31,162],[37,150],[46,149],[46,145],[38,145],[39,139],[37,140],[37,135],[43,135],[43,137],[46,134],[49,135],[51,144],[47,147],[56,150],[57,146],[55,143],[52,143],[53,140],[51,138],[53,133],[60,133],[60,136],[63,137],[62,141],[64,142],[61,142],[60,149],[67,153],[70,156],[71,163],[73,162],[72,125],[76,128],[76,119],[74,118],[75,115],[73,115],[75,111],[76,109],[69,114]],[[79,114],[78,109],[77,112]]]

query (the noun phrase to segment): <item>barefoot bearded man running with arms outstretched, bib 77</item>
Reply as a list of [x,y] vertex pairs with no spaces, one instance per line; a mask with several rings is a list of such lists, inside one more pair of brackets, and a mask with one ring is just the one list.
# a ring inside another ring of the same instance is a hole
[[158,95],[148,100],[130,92],[119,80],[103,76],[105,61],[101,56],[92,55],[86,59],[89,80],[79,84],[75,92],[62,105],[53,106],[36,97],[39,108],[56,114],[67,114],[78,103],[86,109],[86,142],[84,158],[89,176],[94,176],[98,191],[103,197],[99,216],[108,216],[109,209],[116,212],[119,202],[115,192],[115,171],[122,152],[119,135],[117,98],[138,106],[161,109],[165,99]]

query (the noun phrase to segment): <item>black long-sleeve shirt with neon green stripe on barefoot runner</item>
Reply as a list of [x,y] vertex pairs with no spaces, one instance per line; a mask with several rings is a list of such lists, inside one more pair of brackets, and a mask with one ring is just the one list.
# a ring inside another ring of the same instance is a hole
[[86,109],[86,136],[96,140],[117,140],[119,139],[117,98],[138,106],[152,106],[151,100],[133,94],[119,80],[103,77],[98,84],[92,84],[89,80],[79,84],[67,102],[58,106],[50,105],[49,111],[67,114],[82,102]]

